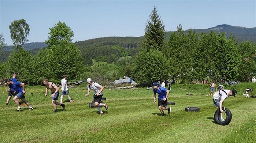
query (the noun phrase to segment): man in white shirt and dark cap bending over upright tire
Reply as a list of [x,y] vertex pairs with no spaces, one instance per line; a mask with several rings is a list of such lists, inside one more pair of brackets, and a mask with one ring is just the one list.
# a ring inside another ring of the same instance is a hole
[[[224,113],[222,110],[222,103],[224,102],[225,99],[228,99],[228,97],[234,96],[236,97],[236,90],[228,90],[228,89],[221,89],[218,92],[216,92],[213,95],[213,105],[218,107],[221,113]],[[221,114],[221,120],[223,121],[222,114]]]

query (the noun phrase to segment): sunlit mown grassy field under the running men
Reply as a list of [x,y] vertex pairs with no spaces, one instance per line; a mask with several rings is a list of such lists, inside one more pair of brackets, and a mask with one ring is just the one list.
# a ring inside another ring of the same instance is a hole
[[[255,143],[256,99],[245,98],[244,89],[256,87],[255,83],[235,86],[236,97],[230,97],[224,106],[232,112],[232,121],[226,126],[214,123],[212,97],[208,85],[171,86],[168,101],[174,101],[171,114],[161,116],[153,103],[153,91],[104,90],[108,110],[99,115],[89,108],[93,93],[85,97],[85,85],[69,88],[74,103],[64,97],[66,111],[53,113],[51,98],[44,97],[44,86],[28,86],[26,99],[34,107],[15,111],[13,101],[6,105],[6,87],[0,87],[1,143],[55,143],[55,142],[136,142],[136,143]],[[30,94],[33,93],[33,96]],[[193,96],[187,96],[187,93]],[[48,94],[50,95],[50,93]],[[60,97],[59,97],[60,99]],[[59,100],[58,100],[59,101]],[[200,108],[199,112],[185,112],[187,106]],[[167,113],[167,111],[165,111]]]

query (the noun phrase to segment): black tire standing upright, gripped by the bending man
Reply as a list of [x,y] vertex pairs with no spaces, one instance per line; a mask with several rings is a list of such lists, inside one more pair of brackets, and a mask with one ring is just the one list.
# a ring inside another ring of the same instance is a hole
[[222,122],[222,121],[219,120],[218,116],[219,116],[219,114],[220,114],[221,112],[219,111],[219,109],[217,109],[217,110],[215,111],[215,113],[214,113],[214,122],[215,122],[216,124],[220,124],[220,125],[225,126],[225,125],[228,125],[228,124],[231,122],[231,120],[232,120],[232,114],[231,114],[231,111],[230,111],[228,108],[222,107],[222,110],[224,110],[225,113],[226,113],[226,116],[227,116],[226,120],[225,120],[224,122]]

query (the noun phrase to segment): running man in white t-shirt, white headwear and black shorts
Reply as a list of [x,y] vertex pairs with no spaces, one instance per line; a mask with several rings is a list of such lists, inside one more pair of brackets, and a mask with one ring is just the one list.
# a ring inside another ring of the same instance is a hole
[[93,102],[95,107],[100,111],[100,115],[102,115],[103,111],[100,109],[100,107],[104,106],[106,110],[108,109],[106,103],[100,103],[103,96],[102,90],[104,89],[104,87],[97,82],[92,82],[91,78],[87,78],[87,84],[88,91],[85,96],[89,96],[91,89],[94,91]]

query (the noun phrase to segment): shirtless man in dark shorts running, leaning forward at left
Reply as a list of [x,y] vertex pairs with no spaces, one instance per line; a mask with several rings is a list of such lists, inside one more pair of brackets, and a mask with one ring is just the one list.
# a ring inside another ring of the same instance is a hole
[[46,78],[43,79],[43,84],[46,85],[46,94],[44,95],[45,97],[47,96],[47,93],[48,93],[49,89],[52,91],[51,98],[52,98],[52,106],[54,108],[54,112],[57,112],[56,105],[62,106],[62,110],[65,111],[65,104],[61,104],[61,103],[57,102],[58,97],[60,95],[59,87],[56,86],[54,83],[49,82],[48,79],[46,79]]

